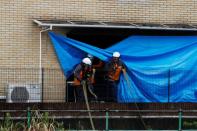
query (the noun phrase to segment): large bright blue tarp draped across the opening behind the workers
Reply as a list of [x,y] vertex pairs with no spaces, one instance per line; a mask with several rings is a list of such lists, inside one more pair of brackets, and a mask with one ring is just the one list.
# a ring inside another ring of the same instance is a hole
[[108,61],[121,53],[130,85],[123,75],[118,102],[197,102],[197,36],[130,36],[100,49],[49,33],[65,76],[87,53]]

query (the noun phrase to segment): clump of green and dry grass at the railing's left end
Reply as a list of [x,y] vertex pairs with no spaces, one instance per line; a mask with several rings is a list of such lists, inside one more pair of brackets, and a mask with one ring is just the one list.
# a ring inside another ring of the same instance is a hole
[[10,113],[6,113],[4,120],[0,123],[0,131],[64,131],[63,122],[55,121],[50,118],[48,112],[40,113],[35,110],[31,113],[30,128],[27,127],[27,122],[14,123]]

